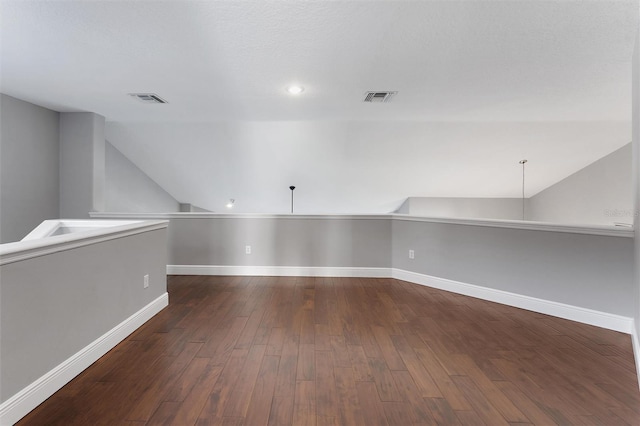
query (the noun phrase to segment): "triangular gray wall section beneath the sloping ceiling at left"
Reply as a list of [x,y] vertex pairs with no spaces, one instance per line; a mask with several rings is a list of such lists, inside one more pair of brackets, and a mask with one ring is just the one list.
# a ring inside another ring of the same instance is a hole
[[107,141],[105,211],[177,212],[179,203]]

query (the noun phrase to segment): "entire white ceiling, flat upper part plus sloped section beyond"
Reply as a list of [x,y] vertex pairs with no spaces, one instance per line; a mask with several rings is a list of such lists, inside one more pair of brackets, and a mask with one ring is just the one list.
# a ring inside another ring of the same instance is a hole
[[286,209],[289,184],[310,212],[516,197],[522,158],[533,195],[631,140],[637,0],[0,4],[3,93],[105,116],[212,210]]

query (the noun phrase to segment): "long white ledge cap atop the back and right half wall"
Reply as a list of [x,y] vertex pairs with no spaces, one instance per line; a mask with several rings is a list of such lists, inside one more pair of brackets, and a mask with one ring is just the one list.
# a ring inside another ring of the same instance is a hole
[[529,231],[564,232],[571,234],[601,235],[633,238],[631,227],[608,225],[582,225],[521,220],[422,217],[404,214],[228,214],[228,213],[90,213],[100,219],[300,219],[300,220],[398,220],[410,222],[444,223],[451,225],[483,226],[489,228],[522,229]]

